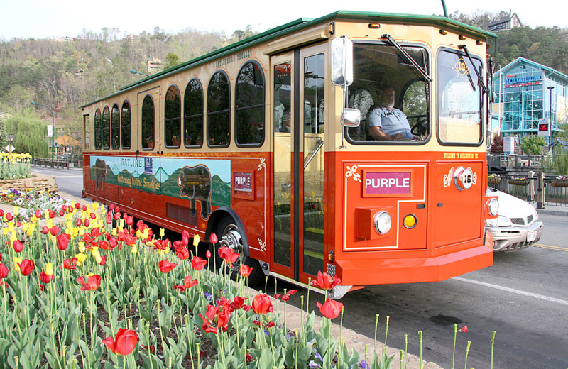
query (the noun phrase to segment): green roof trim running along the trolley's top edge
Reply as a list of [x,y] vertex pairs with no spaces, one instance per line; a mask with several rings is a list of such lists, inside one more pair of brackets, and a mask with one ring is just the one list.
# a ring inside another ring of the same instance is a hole
[[260,43],[266,43],[275,38],[282,37],[283,35],[301,31],[302,29],[316,26],[319,23],[324,23],[327,21],[334,21],[334,20],[359,20],[359,21],[366,20],[375,23],[378,22],[425,23],[431,26],[438,26],[439,28],[444,28],[451,31],[474,34],[478,37],[481,36],[483,38],[486,38],[486,40],[497,38],[497,35],[495,33],[484,31],[481,28],[469,26],[466,23],[454,21],[453,19],[446,18],[444,16],[422,16],[416,14],[403,14],[403,13],[373,13],[373,12],[363,12],[363,11],[336,11],[334,13],[330,13],[327,16],[322,16],[320,18],[299,18],[295,21],[285,23],[282,26],[271,28],[268,31],[264,31],[263,33],[258,33],[257,35],[253,35],[244,40],[238,41],[231,45],[227,45],[224,48],[214,50],[211,53],[207,53],[200,57],[196,57],[195,59],[183,62],[180,65],[176,65],[175,67],[163,70],[161,72],[156,73],[155,75],[151,75],[150,77],[140,79],[139,81],[136,81],[133,84],[129,84],[125,87],[122,87],[121,89],[119,89],[118,92],[115,92],[114,94],[110,94],[107,95],[106,97],[102,97],[100,99],[91,101],[87,104],[79,106],[79,108],[83,109],[92,104],[97,104],[100,101],[109,99],[119,94],[123,94],[124,92],[128,92],[129,90],[134,89],[135,87],[147,84],[149,82],[153,82],[155,79],[160,79],[160,77],[165,77],[166,75],[173,74],[174,72],[185,70],[190,67],[196,67],[198,65],[202,65],[207,62],[212,62],[213,60],[217,60],[226,55],[234,54],[240,50],[251,48]]

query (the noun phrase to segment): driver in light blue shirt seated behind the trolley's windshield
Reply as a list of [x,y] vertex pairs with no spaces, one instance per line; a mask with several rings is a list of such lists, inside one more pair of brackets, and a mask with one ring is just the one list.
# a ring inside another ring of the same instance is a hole
[[396,109],[395,89],[383,87],[379,97],[379,107],[371,109],[367,115],[371,136],[381,141],[420,140],[420,136],[410,132],[406,115]]

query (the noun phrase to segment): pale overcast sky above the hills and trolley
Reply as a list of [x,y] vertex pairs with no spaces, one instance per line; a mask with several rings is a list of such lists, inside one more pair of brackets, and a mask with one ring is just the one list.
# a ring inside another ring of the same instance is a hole
[[[254,31],[266,31],[297,18],[317,18],[338,10],[377,11],[443,15],[440,0],[399,1],[68,1],[1,0],[0,39],[49,38],[80,35],[82,29],[99,32],[119,28],[119,36],[143,31],[153,33],[160,27],[168,33],[187,28],[224,31],[231,35],[251,25]],[[523,24],[568,27],[562,1],[446,0],[448,13],[472,14],[477,9],[498,13],[512,10]],[[556,9],[556,11],[554,10]]]

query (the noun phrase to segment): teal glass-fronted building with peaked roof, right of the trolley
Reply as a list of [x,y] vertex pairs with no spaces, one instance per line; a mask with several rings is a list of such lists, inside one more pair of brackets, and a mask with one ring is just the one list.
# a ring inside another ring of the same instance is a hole
[[552,135],[566,123],[568,76],[519,57],[493,75],[491,131],[502,136],[537,135],[541,119],[552,122]]

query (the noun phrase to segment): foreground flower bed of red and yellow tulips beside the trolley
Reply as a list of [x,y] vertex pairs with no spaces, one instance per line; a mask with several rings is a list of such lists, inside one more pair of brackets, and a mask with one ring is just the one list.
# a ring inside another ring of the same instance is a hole
[[[231,282],[225,266],[239,255],[230,248],[219,248],[223,268],[211,273],[217,258],[192,256],[199,236],[172,243],[99,204],[62,206],[60,224],[36,210],[19,227],[17,215],[0,214],[0,362],[11,368],[390,367],[384,351],[361,360],[330,334],[341,302],[317,303],[319,331],[314,312],[289,331],[268,295],[246,288],[251,270]],[[322,272],[313,281],[340,283]],[[284,311],[294,294],[275,296]]]

